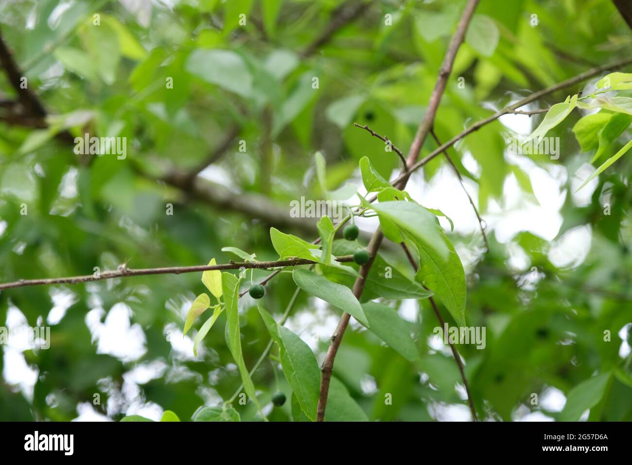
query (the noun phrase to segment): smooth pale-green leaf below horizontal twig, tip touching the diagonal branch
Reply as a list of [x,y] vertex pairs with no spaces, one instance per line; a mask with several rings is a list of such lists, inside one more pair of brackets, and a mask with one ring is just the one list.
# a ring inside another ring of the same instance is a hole
[[294,270],[292,273],[294,282],[298,287],[319,299],[332,304],[357,319],[363,325],[369,326],[367,317],[355,295],[346,286],[332,283],[324,276],[317,275],[309,270]]

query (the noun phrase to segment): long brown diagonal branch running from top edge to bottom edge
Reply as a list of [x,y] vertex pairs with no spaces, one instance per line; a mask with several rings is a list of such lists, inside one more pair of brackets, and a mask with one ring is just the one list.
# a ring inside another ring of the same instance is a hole
[[[465,6],[465,11],[463,11],[463,16],[461,16],[461,20],[459,21],[458,28],[454,33],[452,40],[450,41],[446,56],[444,58],[443,64],[441,65],[441,70],[439,71],[437,84],[435,85],[435,88],[430,96],[430,104],[428,104],[426,113],[424,114],[423,120],[420,123],[415,135],[415,140],[413,140],[413,144],[411,145],[408,158],[406,159],[407,163],[404,164],[404,170],[403,174],[401,175],[401,180],[396,186],[399,189],[404,189],[404,187],[406,187],[406,182],[408,182],[408,177],[410,177],[410,171],[406,170],[405,167],[411,166],[413,163],[415,163],[419,151],[423,145],[423,139],[425,139],[428,131],[430,130],[430,128],[432,128],[434,116],[437,113],[437,108],[439,107],[441,96],[446,89],[446,81],[448,76],[450,75],[450,71],[452,70],[454,58],[456,58],[456,53],[458,52],[459,46],[461,45],[461,42],[463,42],[465,31],[468,27],[468,24],[470,23],[471,17],[474,15],[474,10],[478,5],[478,1],[479,0],[468,1],[468,4]],[[380,228],[377,228],[367,247],[371,259],[368,261],[367,264],[363,265],[362,268],[360,268],[360,276],[356,279],[353,285],[353,295],[358,298],[360,297],[360,295],[362,295],[368,271],[373,264],[375,253],[377,252],[377,249],[379,249],[383,238],[384,235],[382,234],[382,230]],[[327,406],[327,395],[329,394],[329,381],[331,381],[331,374],[334,369],[334,360],[336,359],[336,353],[344,335],[344,330],[346,330],[346,327],[349,323],[349,318],[350,316],[348,313],[343,313],[343,316],[340,319],[338,326],[336,327],[336,332],[334,332],[331,337],[329,350],[327,350],[327,355],[325,356],[325,359],[322,363],[322,378],[320,380],[320,394],[316,411],[316,421],[324,421],[325,419],[325,407]]]

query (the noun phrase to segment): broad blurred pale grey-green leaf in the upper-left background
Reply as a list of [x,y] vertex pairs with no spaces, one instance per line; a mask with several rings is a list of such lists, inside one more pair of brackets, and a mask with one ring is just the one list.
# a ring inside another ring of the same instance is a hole
[[186,60],[186,70],[229,92],[243,97],[252,94],[252,75],[248,66],[232,51],[197,49]]

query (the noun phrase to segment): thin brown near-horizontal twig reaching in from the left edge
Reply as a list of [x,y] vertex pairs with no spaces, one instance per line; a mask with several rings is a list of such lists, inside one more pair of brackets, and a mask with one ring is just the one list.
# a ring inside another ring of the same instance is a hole
[[[353,261],[353,256],[345,255],[336,257],[336,261],[340,263]],[[71,276],[68,278],[45,278],[35,280],[20,280],[13,283],[0,284],[0,290],[15,287],[27,286],[47,286],[52,284],[80,284],[93,281],[109,280],[113,278],[127,278],[128,276],[145,276],[145,275],[181,275],[183,273],[196,273],[198,271],[209,270],[239,270],[240,268],[258,268],[268,270],[269,268],[278,268],[285,266],[310,265],[317,262],[305,258],[291,258],[287,260],[277,261],[255,261],[255,262],[233,262],[219,265],[197,265],[197,266],[171,266],[166,268],[138,268],[132,270],[126,266],[119,266],[116,271],[103,271],[95,275]],[[278,271],[278,270],[277,270]],[[96,273],[95,273],[96,274]]]

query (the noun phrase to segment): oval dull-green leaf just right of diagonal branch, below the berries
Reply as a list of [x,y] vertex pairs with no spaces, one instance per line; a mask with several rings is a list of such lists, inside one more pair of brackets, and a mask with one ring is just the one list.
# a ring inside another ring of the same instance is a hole
[[396,309],[376,302],[367,302],[362,305],[362,309],[370,323],[371,332],[406,360],[416,361],[419,358],[408,323],[400,318]]

